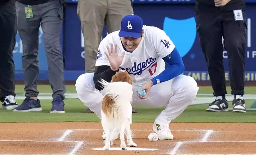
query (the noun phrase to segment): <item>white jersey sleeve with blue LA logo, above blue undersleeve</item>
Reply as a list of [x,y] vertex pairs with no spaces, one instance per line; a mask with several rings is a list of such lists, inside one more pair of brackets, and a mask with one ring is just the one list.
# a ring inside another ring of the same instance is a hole
[[153,44],[155,45],[155,51],[159,57],[164,58],[174,50],[175,45],[165,31],[157,28],[153,36]]

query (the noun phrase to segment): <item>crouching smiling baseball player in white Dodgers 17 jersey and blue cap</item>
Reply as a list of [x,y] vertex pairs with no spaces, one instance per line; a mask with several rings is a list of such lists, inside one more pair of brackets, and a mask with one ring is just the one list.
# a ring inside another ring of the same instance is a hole
[[[196,98],[198,86],[192,77],[181,75],[184,64],[170,38],[157,27],[143,25],[142,19],[132,14],[122,19],[120,30],[101,41],[95,72],[82,74],[76,81],[80,100],[99,118],[106,92],[98,80],[110,82],[118,70],[126,70],[134,80],[133,104],[166,106],[156,117],[153,130],[159,140],[173,140],[169,123]],[[145,96],[138,94],[138,85],[143,85]],[[115,133],[117,138],[118,130]]]

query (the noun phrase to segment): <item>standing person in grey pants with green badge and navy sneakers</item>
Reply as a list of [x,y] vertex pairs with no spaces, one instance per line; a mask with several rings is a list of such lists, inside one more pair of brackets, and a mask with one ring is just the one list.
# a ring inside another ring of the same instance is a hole
[[64,63],[60,46],[63,19],[63,0],[16,0],[17,28],[23,45],[25,100],[14,112],[42,111],[37,99],[39,74],[39,28],[43,30],[48,75],[52,88],[50,113],[64,113]]

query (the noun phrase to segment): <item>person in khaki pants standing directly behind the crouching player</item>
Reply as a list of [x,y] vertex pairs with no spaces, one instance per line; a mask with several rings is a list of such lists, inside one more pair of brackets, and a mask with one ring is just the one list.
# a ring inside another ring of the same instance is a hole
[[[78,0],[77,14],[84,38],[85,73],[92,73],[104,24],[108,33],[120,30],[122,18],[133,14],[132,0]],[[86,112],[93,113],[89,108]]]

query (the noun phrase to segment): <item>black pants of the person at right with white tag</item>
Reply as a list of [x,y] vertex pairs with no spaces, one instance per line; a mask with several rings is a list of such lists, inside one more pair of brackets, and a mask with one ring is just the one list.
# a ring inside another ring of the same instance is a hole
[[246,43],[246,15],[235,21],[233,11],[213,11],[196,14],[196,29],[207,62],[213,95],[227,94],[223,66],[223,44],[229,59],[231,94],[244,95],[244,53]]

